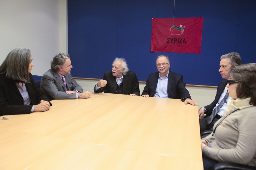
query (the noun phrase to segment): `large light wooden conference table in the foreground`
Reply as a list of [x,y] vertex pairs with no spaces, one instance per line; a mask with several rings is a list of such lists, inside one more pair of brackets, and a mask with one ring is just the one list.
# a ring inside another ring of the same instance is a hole
[[198,107],[109,93],[0,120],[0,169],[203,169]]

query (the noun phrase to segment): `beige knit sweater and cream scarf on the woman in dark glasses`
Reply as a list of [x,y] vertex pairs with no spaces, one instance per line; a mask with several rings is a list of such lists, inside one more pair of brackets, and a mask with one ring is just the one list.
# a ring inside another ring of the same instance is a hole
[[[213,129],[222,121],[214,136],[203,138],[211,147],[205,146],[202,153],[218,162],[256,166],[256,106],[249,105],[250,98],[239,100],[228,101],[227,111],[214,124]],[[241,110],[231,113],[237,108]]]

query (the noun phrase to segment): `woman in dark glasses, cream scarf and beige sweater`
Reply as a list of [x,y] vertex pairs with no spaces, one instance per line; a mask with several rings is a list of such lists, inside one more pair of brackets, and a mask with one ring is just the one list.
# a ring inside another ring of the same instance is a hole
[[232,66],[228,108],[201,140],[204,169],[218,162],[256,166],[256,63]]

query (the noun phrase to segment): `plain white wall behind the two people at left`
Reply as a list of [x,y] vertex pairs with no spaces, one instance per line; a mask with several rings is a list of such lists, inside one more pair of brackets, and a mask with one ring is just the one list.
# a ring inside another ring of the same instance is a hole
[[0,63],[14,48],[29,48],[33,75],[43,75],[66,52],[66,0],[1,0]]

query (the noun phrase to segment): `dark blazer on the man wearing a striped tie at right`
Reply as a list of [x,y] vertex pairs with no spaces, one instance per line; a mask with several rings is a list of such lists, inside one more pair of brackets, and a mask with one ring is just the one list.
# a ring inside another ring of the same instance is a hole
[[223,93],[223,90],[225,89],[227,83],[228,83],[227,80],[222,80],[219,83],[214,101],[211,104],[209,104],[209,105],[204,107],[206,109],[206,111],[205,111],[206,116],[209,116],[209,115],[212,114],[212,110],[214,109],[214,107],[216,106],[217,102],[219,101],[220,96]]

